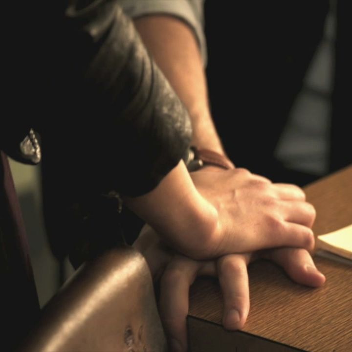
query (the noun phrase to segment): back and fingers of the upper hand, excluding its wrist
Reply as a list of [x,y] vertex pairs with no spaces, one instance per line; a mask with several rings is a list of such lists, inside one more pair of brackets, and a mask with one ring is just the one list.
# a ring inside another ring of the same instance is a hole
[[203,257],[284,246],[313,249],[315,210],[301,188],[241,168],[204,168],[191,177],[218,212],[212,247]]

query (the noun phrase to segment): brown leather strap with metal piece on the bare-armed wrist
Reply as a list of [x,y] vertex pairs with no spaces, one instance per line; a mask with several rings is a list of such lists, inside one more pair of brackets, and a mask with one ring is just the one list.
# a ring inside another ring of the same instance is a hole
[[189,172],[204,166],[216,166],[224,170],[234,169],[234,164],[224,155],[209,149],[190,147],[183,158]]

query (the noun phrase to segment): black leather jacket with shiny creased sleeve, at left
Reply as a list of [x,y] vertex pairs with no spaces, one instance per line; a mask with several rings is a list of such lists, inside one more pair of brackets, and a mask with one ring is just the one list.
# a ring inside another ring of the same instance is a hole
[[[16,18],[3,43],[7,94],[0,123],[0,149],[14,158],[31,128],[41,136],[44,213],[58,258],[82,247],[82,240],[90,247],[99,242],[101,250],[118,244],[116,209],[104,195],[151,191],[191,139],[186,109],[115,1],[62,3],[6,4],[4,13]],[[13,185],[10,191],[3,186],[12,181],[1,158],[0,280],[6,288],[2,306],[9,308],[1,315],[9,328],[4,335],[14,339],[17,331],[20,339],[38,300],[19,206]],[[14,318],[18,326],[10,323]]]

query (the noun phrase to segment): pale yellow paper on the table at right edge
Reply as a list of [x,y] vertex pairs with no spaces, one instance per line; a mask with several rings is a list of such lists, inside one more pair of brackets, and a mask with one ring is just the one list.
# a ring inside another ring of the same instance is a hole
[[317,249],[352,260],[352,225],[318,236]]

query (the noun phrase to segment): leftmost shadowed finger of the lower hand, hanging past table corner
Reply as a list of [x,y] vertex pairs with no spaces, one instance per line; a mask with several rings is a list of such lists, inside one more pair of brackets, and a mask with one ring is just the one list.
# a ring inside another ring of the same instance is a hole
[[172,352],[187,351],[189,288],[198,268],[198,262],[179,256],[166,267],[160,280],[160,316]]

